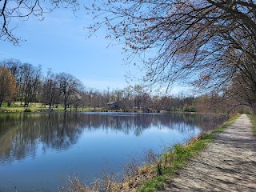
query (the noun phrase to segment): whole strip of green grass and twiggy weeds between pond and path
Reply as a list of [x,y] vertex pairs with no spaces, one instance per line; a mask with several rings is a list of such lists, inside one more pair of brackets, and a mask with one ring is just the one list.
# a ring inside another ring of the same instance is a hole
[[154,192],[163,190],[166,181],[170,181],[170,178],[174,177],[178,170],[186,166],[190,158],[194,158],[200,151],[204,150],[218,134],[226,130],[240,115],[230,115],[230,119],[221,126],[204,132],[197,138],[190,138],[186,145],[175,144],[166,148],[163,154],[152,154],[152,151],[149,151],[146,162],[152,162],[151,164],[147,163],[138,167],[134,165],[134,162],[127,162],[124,169],[130,174],[126,173],[122,176],[123,182],[118,182],[117,176],[113,173],[104,173],[102,179],[94,180],[88,186],[74,176],[69,178],[67,186],[61,187],[59,191]]

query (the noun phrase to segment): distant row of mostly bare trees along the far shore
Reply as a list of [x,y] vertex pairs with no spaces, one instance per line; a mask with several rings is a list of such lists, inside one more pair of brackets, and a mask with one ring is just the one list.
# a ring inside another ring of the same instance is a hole
[[[86,88],[72,74],[54,74],[48,71],[42,74],[41,66],[22,63],[15,59],[0,62],[0,106],[2,102],[20,102],[21,106],[29,106],[31,102],[40,102],[50,109],[63,105],[64,110],[79,106],[90,106],[94,110],[122,111],[205,111],[227,113],[231,104],[222,103],[218,94],[194,97],[191,94],[157,95],[150,94],[143,86],[127,86],[124,89],[96,90]],[[115,102],[115,106],[108,106]],[[222,105],[216,105],[222,103]]]

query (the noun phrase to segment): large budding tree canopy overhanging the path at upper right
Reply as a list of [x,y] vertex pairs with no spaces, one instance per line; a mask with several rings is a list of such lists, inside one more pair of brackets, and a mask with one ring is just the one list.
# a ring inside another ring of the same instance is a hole
[[141,55],[148,85],[182,80],[256,109],[255,1],[109,0],[88,11],[91,33],[107,26],[107,38]]

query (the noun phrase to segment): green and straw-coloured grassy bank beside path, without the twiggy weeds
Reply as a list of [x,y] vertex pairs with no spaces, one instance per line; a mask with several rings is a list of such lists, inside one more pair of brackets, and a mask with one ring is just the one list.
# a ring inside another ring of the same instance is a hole
[[[222,126],[218,126],[212,131],[202,133],[198,138],[191,138],[190,142],[187,142],[185,145],[174,145],[168,152],[162,154],[162,158],[156,164],[150,166],[150,171],[154,171],[153,176],[140,178],[142,177],[140,174],[135,175],[134,178],[130,178],[128,181],[122,183],[122,186],[126,186],[126,189],[120,191],[145,192],[164,190],[168,178],[172,178],[177,175],[179,171],[182,171],[186,164],[190,162],[191,158],[198,157],[198,154],[205,150],[206,147],[216,139],[218,134],[221,134],[231,126],[239,116],[240,114],[230,118],[227,122],[224,122]],[[142,173],[145,168],[146,167],[142,167]],[[144,173],[144,176],[145,175],[146,174]],[[132,180],[141,180],[142,183],[135,182],[134,186],[130,186],[130,183],[133,183]],[[127,186],[130,187],[127,188]]]

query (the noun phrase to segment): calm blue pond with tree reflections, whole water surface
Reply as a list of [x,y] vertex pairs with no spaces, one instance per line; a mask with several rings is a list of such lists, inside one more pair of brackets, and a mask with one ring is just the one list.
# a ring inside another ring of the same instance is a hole
[[200,114],[0,114],[0,191],[58,191],[69,175],[83,182],[146,150],[161,153],[225,119]]

